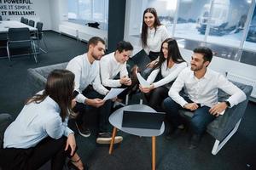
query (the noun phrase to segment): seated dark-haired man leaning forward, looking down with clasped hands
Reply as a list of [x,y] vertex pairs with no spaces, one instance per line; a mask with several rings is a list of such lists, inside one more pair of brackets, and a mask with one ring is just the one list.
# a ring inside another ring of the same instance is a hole
[[[100,61],[102,85],[106,88],[126,88],[118,96],[118,100],[125,99],[130,91],[131,78],[128,77],[126,61],[131,57],[133,47],[130,42],[121,41],[117,44],[115,52],[104,56]],[[119,78],[117,79],[116,77]]]

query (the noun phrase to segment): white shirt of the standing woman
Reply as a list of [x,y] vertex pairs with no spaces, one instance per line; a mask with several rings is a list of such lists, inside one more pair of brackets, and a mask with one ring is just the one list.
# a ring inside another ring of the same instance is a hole
[[148,28],[147,47],[144,48],[147,54],[149,54],[149,51],[160,52],[162,42],[170,37],[166,26],[157,26],[155,33],[154,31],[154,28]]

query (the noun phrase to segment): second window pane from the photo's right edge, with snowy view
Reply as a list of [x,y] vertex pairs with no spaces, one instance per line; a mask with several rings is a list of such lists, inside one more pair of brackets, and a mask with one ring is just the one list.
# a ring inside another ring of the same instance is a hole
[[207,42],[239,48],[251,4],[247,0],[212,1]]

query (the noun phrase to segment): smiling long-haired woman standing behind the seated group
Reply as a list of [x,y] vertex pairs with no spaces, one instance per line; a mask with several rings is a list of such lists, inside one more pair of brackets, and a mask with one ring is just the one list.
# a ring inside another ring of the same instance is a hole
[[153,68],[159,56],[161,43],[169,37],[166,26],[160,24],[154,8],[146,8],[143,13],[143,28],[141,42],[143,49],[151,60],[148,68]]

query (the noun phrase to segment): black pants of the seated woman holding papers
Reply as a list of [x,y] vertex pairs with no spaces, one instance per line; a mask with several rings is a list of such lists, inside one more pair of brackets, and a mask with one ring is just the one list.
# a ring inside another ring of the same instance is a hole
[[168,97],[169,89],[165,86],[154,88],[149,93],[144,94],[148,105],[155,111],[163,111],[162,102]]

